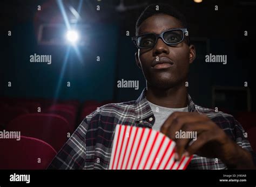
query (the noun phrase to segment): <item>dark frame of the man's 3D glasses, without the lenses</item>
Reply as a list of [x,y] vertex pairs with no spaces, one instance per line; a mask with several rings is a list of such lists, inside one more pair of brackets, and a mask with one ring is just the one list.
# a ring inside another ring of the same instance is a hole
[[[164,34],[165,34],[166,32],[169,32],[169,31],[178,31],[178,30],[182,31],[182,33],[183,33],[183,35],[182,35],[183,38],[181,39],[181,41],[176,42],[176,43],[173,43],[173,44],[170,44],[170,43],[168,43],[168,42],[166,42],[166,41],[164,40],[163,36],[164,36]],[[135,36],[135,37],[132,37],[132,41],[133,41],[133,43],[136,45],[136,47],[137,47],[137,48],[140,48],[140,49],[153,48],[154,46],[156,46],[157,41],[158,41],[159,38],[161,38],[161,39],[164,41],[164,43],[165,43],[166,45],[172,46],[172,45],[177,45],[177,44],[183,42],[183,40],[184,40],[184,38],[185,38],[185,37],[184,37],[184,34],[185,34],[186,31],[187,31],[187,28],[174,28],[174,29],[170,29],[170,30],[167,30],[167,31],[163,31],[163,32],[160,33],[160,34],[156,34],[156,33],[146,33],[146,34],[141,34],[141,35],[137,35],[137,36]],[[138,38],[139,38],[139,37],[143,37],[144,35],[148,35],[148,34],[153,34],[153,35],[156,37],[156,41],[154,42],[154,45],[153,45],[152,47],[139,47],[139,45],[138,45]]]

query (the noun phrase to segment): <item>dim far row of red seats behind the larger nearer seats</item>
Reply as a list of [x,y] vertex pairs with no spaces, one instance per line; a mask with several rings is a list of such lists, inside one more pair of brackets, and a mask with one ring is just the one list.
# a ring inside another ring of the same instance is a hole
[[[42,102],[42,101],[41,101]],[[76,128],[77,123],[82,121],[88,114],[95,111],[97,107],[112,101],[99,103],[95,100],[88,100],[82,106],[75,100],[58,102],[33,102],[33,101],[18,101],[17,103],[1,102],[0,100],[0,128],[8,125],[8,123],[18,116],[28,113],[51,113],[57,114],[68,120],[71,130]],[[82,107],[82,109],[80,109]]]

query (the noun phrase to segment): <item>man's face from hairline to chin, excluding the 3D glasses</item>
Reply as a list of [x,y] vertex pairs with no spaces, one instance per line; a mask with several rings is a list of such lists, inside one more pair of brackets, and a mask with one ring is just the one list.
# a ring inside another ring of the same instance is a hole
[[[139,27],[138,34],[160,34],[172,28],[183,27],[178,19],[169,15],[158,14],[144,20]],[[194,47],[188,46],[185,40],[175,46],[168,46],[159,38],[153,48],[139,49],[136,55],[137,64],[143,70],[147,85],[159,89],[168,89],[186,81],[188,67],[194,60],[195,53]],[[159,63],[169,60],[170,64],[154,66],[157,59]]]

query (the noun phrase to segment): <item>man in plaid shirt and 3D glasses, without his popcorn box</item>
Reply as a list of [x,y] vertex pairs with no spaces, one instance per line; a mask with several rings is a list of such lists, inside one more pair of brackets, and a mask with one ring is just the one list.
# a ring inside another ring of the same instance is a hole
[[[188,169],[255,169],[255,154],[233,116],[198,106],[186,82],[196,50],[184,16],[167,4],[149,5],[136,24],[137,65],[147,87],[137,100],[107,104],[87,116],[49,169],[107,169],[117,124],[153,128],[176,141],[175,158],[194,155]],[[177,138],[196,132],[197,140]]]

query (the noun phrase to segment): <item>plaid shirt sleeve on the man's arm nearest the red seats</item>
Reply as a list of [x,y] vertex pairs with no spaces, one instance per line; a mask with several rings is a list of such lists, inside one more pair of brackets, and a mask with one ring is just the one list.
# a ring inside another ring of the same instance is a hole
[[87,128],[88,124],[85,118],[51,161],[48,169],[83,169]]

